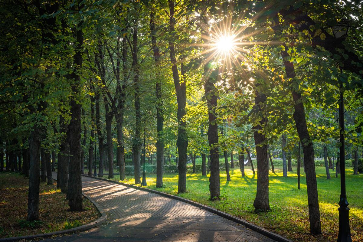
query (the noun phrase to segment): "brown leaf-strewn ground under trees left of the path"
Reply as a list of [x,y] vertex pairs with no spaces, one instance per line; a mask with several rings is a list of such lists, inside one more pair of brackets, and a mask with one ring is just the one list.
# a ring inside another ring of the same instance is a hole
[[96,220],[100,214],[83,197],[82,212],[69,212],[66,195],[57,184],[40,183],[39,219],[25,222],[28,209],[29,179],[19,173],[0,172],[0,238],[43,234],[70,229]]

